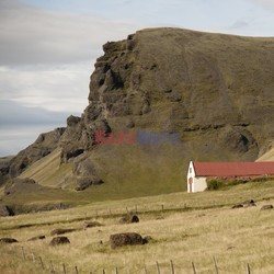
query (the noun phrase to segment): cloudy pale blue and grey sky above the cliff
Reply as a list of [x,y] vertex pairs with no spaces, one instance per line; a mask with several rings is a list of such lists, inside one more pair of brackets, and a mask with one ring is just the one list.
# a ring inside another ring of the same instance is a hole
[[104,43],[160,26],[274,36],[274,0],[0,0],[0,157],[81,115]]

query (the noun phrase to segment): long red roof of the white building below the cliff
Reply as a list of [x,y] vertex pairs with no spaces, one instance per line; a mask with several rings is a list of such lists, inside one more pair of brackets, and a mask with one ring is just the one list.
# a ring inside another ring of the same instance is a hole
[[197,176],[274,175],[274,162],[193,162]]

